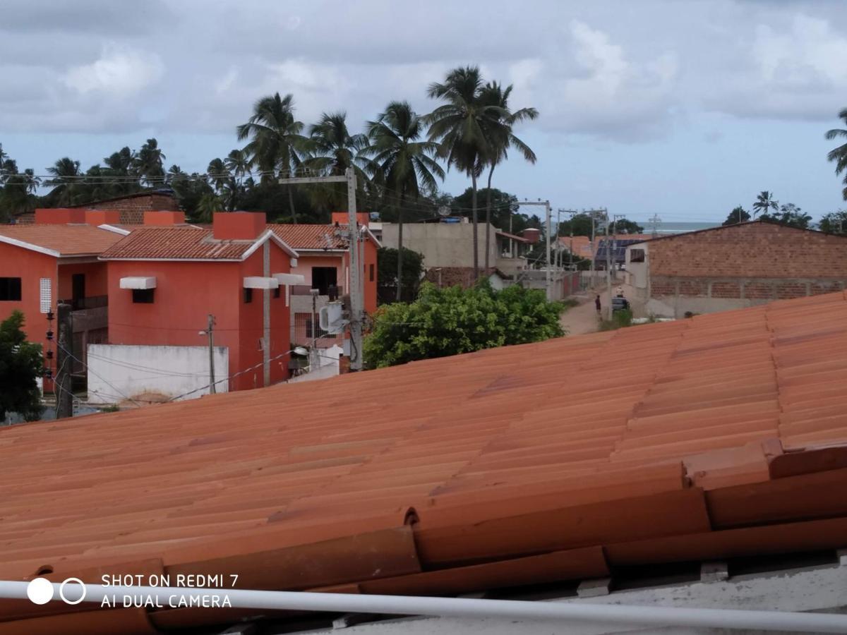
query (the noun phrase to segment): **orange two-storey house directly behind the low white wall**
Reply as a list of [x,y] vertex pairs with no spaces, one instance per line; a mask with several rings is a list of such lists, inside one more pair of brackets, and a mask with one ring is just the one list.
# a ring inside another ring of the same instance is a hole
[[[175,214],[178,213],[147,213]],[[229,389],[288,378],[291,261],[298,257],[264,213],[215,213],[212,229],[147,222],[102,253],[108,265],[108,333],[113,345],[214,345],[229,350]],[[153,362],[150,362],[153,363]]]

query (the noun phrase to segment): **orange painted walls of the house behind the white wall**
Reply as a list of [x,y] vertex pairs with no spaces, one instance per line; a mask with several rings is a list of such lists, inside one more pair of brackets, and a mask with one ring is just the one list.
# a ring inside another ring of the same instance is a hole
[[[271,245],[271,273],[288,273],[288,260],[279,246]],[[243,279],[252,275],[263,275],[262,247],[246,262],[109,261],[109,343],[206,345],[206,337],[197,332],[206,329],[208,313],[212,313],[214,343],[229,348],[229,374],[260,364],[263,291],[254,289],[252,302],[244,302]],[[120,279],[126,276],[155,276],[155,301],[133,304],[132,291],[120,289]],[[280,298],[271,292],[271,357],[289,350],[289,323],[285,290]],[[272,382],[287,377],[287,358],[271,362]],[[231,380],[230,390],[262,385],[263,369],[258,367]]]

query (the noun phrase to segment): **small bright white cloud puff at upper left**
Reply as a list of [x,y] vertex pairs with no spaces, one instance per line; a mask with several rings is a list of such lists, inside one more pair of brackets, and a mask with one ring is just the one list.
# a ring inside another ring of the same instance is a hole
[[131,97],[161,80],[163,75],[164,64],[158,54],[108,44],[97,61],[69,69],[63,81],[82,95]]

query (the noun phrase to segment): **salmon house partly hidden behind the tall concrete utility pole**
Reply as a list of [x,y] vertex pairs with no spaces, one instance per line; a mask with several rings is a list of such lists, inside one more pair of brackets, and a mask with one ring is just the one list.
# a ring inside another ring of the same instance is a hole
[[[361,262],[365,312],[376,311],[377,240],[368,229],[369,214],[357,213],[362,226]],[[329,301],[330,291],[345,295],[350,289],[349,216],[334,212],[331,224],[272,224],[274,234],[296,249],[300,257],[292,264],[291,273],[302,275],[303,283],[291,287],[291,340],[296,345],[309,345],[318,332],[313,332],[313,309]],[[334,289],[335,288],[335,289]],[[318,295],[313,299],[312,290]],[[341,337],[320,337],[318,346],[339,343]]]

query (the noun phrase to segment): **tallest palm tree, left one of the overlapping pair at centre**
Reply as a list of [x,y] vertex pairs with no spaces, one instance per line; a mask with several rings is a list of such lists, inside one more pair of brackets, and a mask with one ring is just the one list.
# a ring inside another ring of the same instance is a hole
[[[477,179],[489,163],[488,137],[503,126],[502,120],[508,114],[499,106],[484,103],[482,88],[479,67],[468,66],[451,70],[443,84],[430,84],[427,91],[429,97],[446,101],[427,117],[429,140],[438,141],[439,156],[446,160],[447,168],[455,165],[471,179],[474,277],[479,275]],[[497,132],[498,137],[503,134]]]

